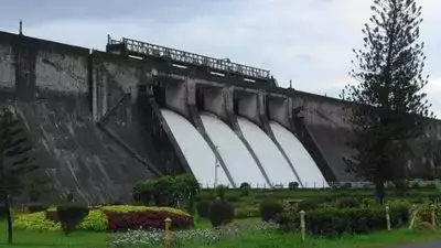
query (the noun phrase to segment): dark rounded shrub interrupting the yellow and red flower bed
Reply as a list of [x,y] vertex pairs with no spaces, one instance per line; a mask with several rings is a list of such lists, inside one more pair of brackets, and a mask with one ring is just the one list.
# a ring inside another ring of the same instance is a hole
[[89,208],[78,203],[60,205],[56,213],[65,234],[76,229],[79,223],[88,215]]

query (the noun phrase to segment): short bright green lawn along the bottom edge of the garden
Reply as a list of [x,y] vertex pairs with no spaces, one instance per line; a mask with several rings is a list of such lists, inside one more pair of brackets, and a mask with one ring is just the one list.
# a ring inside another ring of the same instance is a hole
[[[252,222],[252,219],[244,219],[241,222]],[[4,223],[0,226],[0,247],[14,247],[14,248],[43,248],[43,247],[107,247],[107,240],[112,234],[107,233],[73,233],[65,236],[61,231],[30,231],[30,230],[15,230],[14,244],[7,246],[7,229]],[[207,223],[201,220],[200,227],[207,227]],[[216,245],[189,244],[185,247],[198,248],[388,248],[395,245],[409,244],[416,241],[426,241],[441,239],[441,231],[422,231],[422,230],[392,230],[375,233],[369,235],[358,236],[344,236],[334,239],[320,239],[306,238],[304,242],[301,241],[299,235],[295,234],[254,234],[244,235],[243,237],[220,241]]]

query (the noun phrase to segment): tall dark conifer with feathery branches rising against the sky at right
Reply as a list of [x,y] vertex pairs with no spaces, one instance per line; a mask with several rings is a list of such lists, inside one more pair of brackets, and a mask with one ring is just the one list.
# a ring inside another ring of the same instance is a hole
[[357,139],[348,145],[357,150],[344,158],[348,169],[372,180],[383,204],[384,183],[394,180],[391,162],[400,144],[417,138],[427,128],[431,105],[421,89],[426,56],[419,42],[421,7],[415,0],[374,0],[374,12],[363,29],[364,48],[355,51],[349,72],[359,84],[347,85],[341,98],[349,101],[346,121]]

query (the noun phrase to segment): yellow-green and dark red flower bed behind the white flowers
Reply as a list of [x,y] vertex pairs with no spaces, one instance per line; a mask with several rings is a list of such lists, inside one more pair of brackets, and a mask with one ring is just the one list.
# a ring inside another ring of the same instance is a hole
[[[185,229],[193,226],[191,215],[171,207],[103,206],[90,208],[89,214],[83,219],[78,228],[93,231],[164,228],[166,217],[172,219],[172,228],[174,229]],[[19,215],[14,226],[21,229],[61,229],[56,208]]]

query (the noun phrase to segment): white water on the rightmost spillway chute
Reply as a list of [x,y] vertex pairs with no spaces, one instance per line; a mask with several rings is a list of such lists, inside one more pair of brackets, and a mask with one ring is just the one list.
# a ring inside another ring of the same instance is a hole
[[329,187],[322,172],[300,140],[278,122],[271,121],[270,126],[277,141],[299,174],[303,187]]

